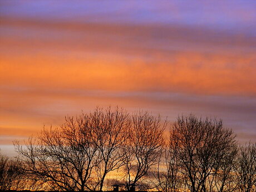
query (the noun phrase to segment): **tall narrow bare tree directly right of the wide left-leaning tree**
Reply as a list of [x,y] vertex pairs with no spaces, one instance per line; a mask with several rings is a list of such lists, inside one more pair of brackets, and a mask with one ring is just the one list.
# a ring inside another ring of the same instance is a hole
[[120,147],[127,139],[130,126],[129,114],[124,109],[106,110],[97,108],[88,118],[91,121],[92,142],[99,150],[96,166],[99,190],[102,190],[106,175],[123,165]]

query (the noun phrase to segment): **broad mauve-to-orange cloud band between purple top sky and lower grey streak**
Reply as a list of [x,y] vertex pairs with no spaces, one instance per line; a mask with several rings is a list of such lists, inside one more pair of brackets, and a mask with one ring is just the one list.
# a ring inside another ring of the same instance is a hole
[[253,38],[179,26],[2,18],[1,85],[255,95]]

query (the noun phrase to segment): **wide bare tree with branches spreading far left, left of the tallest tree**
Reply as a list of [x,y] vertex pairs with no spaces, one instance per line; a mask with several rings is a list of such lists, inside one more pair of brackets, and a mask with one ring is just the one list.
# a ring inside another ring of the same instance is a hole
[[26,147],[16,143],[19,159],[32,179],[54,190],[93,190],[93,168],[99,163],[97,146],[91,139],[90,119],[66,117],[56,129],[42,130]]

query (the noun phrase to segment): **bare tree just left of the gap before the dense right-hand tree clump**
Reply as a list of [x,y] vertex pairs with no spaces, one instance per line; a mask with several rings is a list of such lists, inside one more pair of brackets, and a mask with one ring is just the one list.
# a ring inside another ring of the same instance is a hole
[[160,116],[154,117],[149,112],[139,111],[131,116],[129,137],[122,148],[127,190],[132,190],[132,185],[149,188],[145,176],[157,163],[164,145],[163,131],[167,122],[161,125],[160,121]]

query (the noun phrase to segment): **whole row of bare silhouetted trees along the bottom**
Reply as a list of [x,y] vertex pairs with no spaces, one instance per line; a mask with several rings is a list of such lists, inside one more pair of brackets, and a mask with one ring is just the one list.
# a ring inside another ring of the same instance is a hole
[[[169,130],[169,133],[166,132]],[[96,108],[43,128],[15,160],[0,157],[0,190],[256,191],[256,144],[238,145],[221,120]]]

